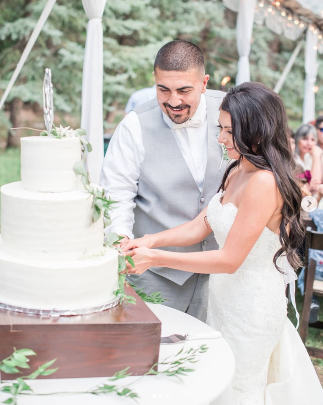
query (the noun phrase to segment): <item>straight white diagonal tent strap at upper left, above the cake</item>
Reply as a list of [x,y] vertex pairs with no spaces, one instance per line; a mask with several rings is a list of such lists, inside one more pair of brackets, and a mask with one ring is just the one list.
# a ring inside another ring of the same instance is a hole
[[40,33],[40,31],[42,30],[44,24],[47,21],[47,18],[50,14],[50,12],[52,11],[52,8],[54,7],[54,4],[56,3],[56,0],[48,0],[42,13],[40,14],[39,20],[37,21],[37,24],[35,26],[35,28],[32,31],[32,35],[30,36],[26,48],[24,49],[24,52],[22,53],[19,62],[17,63],[16,69],[13,72],[13,75],[11,76],[10,82],[8,83],[7,88],[5,89],[1,100],[0,100],[0,110],[3,107],[3,104],[5,103],[6,98],[8,97],[8,94],[12,88],[12,86],[15,84],[15,81],[22,69],[22,67],[24,66],[26,59],[28,58],[32,47],[34,45],[34,43],[36,42],[38,35]]

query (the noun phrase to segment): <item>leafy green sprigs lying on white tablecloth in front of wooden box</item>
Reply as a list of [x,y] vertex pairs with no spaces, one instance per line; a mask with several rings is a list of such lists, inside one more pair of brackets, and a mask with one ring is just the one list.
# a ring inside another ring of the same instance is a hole
[[[58,368],[49,369],[49,367],[57,360],[51,360],[38,367],[36,371],[27,375],[16,378],[13,382],[4,382],[0,381],[0,391],[9,395],[9,397],[2,402],[2,404],[18,404],[18,397],[20,395],[34,395],[34,396],[43,396],[43,395],[56,395],[56,394],[93,394],[93,395],[107,395],[115,394],[121,397],[127,397],[133,400],[139,398],[138,394],[129,386],[133,383],[138,382],[144,376],[168,376],[175,377],[181,382],[183,382],[184,376],[187,376],[189,373],[194,372],[194,369],[189,368],[190,363],[196,363],[199,360],[199,356],[205,353],[208,350],[206,345],[201,345],[194,348],[189,348],[184,350],[182,348],[177,354],[169,356],[166,359],[162,360],[159,363],[154,364],[151,369],[144,374],[143,376],[138,377],[136,380],[130,382],[129,384],[118,386],[118,384],[113,384],[122,378],[131,376],[131,373],[128,373],[129,368],[127,367],[124,370],[118,371],[114,376],[107,378],[101,384],[96,385],[93,388],[90,388],[87,391],[78,391],[78,392],[52,392],[52,393],[42,393],[37,394],[32,390],[31,386],[27,384],[26,379],[36,379],[38,376],[50,376],[54,374]],[[14,352],[4,360],[0,361],[0,370],[3,373],[7,374],[17,374],[22,373],[19,369],[29,369],[29,356],[35,356],[36,353],[31,349],[20,349],[14,350]],[[158,366],[166,366],[165,370],[158,371]]]

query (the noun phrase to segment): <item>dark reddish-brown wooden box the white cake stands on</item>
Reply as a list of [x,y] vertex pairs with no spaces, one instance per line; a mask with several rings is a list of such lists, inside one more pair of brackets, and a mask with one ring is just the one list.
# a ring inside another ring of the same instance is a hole
[[[136,304],[122,304],[91,315],[41,317],[0,310],[0,359],[13,348],[30,348],[30,370],[57,357],[55,374],[40,378],[113,376],[130,366],[142,375],[158,362],[161,321],[131,289]],[[25,374],[24,374],[25,375]],[[19,375],[1,373],[1,379]]]

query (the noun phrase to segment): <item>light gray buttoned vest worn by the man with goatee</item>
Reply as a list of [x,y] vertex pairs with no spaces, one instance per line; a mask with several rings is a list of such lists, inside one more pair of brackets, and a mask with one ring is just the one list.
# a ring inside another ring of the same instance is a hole
[[[171,129],[162,117],[157,99],[134,109],[142,130],[145,158],[134,199],[135,238],[174,228],[194,219],[217,193],[226,164],[219,171],[222,150],[217,140],[219,107],[226,93],[207,90],[208,156],[202,193],[188,168]],[[206,159],[206,157],[205,157]],[[211,233],[202,242],[187,247],[163,248],[174,252],[200,252],[218,249]],[[152,267],[151,271],[183,285],[193,273]],[[196,269],[197,270],[197,269]]]

